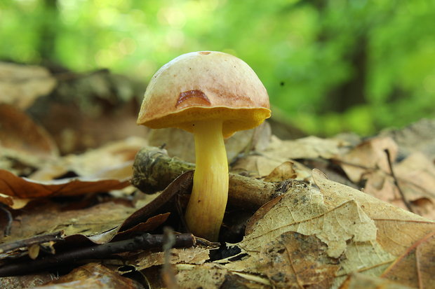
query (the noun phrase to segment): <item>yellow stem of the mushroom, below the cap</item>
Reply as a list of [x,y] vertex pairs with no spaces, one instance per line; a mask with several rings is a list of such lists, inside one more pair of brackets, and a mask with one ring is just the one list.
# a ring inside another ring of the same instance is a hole
[[222,120],[193,125],[196,169],[186,223],[195,236],[217,241],[228,199],[228,161]]

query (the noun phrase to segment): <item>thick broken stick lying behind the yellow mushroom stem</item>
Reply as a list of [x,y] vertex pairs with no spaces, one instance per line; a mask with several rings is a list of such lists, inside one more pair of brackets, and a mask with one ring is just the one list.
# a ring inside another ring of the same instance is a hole
[[[147,194],[163,190],[185,171],[195,165],[176,157],[169,157],[166,150],[145,147],[138,152],[133,164],[131,183]],[[257,209],[271,199],[286,192],[297,192],[307,185],[300,181],[286,180],[269,183],[237,174],[229,174],[229,204],[248,209]]]

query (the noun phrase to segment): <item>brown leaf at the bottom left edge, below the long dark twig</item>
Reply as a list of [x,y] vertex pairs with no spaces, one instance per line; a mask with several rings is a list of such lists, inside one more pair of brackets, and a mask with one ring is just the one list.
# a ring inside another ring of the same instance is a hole
[[132,279],[123,277],[118,273],[104,267],[98,263],[88,263],[72,270],[69,274],[57,280],[46,283],[39,289],[60,289],[60,288],[126,288],[139,289],[140,284]]

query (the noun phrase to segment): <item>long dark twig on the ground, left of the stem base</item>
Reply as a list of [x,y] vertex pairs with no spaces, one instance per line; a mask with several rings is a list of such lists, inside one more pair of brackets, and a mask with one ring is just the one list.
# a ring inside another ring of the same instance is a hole
[[[190,247],[194,244],[196,244],[196,239],[192,234],[175,234],[174,247]],[[163,235],[142,234],[133,239],[79,248],[56,255],[48,255],[34,261],[25,260],[15,264],[5,265],[0,267],[0,277],[29,274],[45,269],[58,268],[62,265],[72,265],[80,260],[114,258],[114,254],[116,253],[161,248],[162,246]]]

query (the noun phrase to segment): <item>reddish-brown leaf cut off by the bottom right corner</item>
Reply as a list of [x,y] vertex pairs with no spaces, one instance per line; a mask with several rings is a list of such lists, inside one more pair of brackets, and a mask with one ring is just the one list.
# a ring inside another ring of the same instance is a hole
[[414,288],[435,283],[435,231],[417,240],[382,274],[382,277]]

